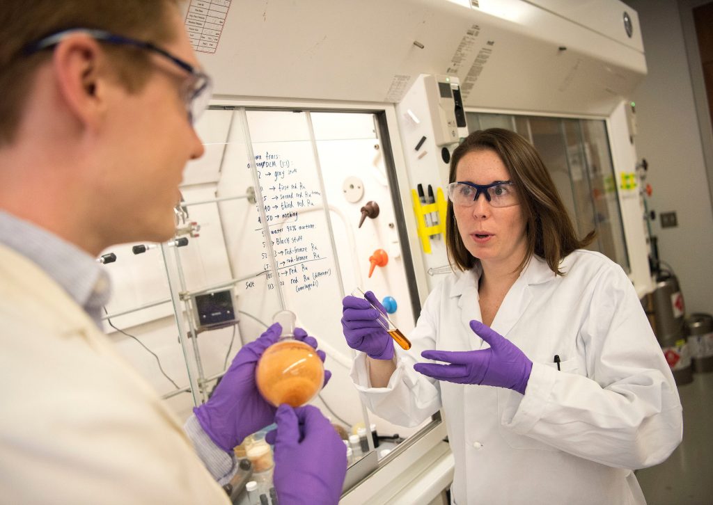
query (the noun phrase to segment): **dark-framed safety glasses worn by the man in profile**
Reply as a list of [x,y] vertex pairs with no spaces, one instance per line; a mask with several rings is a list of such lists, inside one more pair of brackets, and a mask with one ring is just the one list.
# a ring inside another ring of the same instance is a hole
[[68,30],[58,31],[57,33],[53,33],[41,38],[39,41],[29,44],[24,48],[24,54],[29,56],[39,51],[43,51],[44,49],[52,48],[60,43],[63,38],[66,38],[73,33],[84,33],[97,41],[115,44],[117,46],[133,46],[135,48],[144,49],[145,51],[160,54],[160,56],[167,58],[183,71],[188,72],[188,78],[185,80],[181,93],[183,100],[185,100],[185,108],[190,122],[195,123],[195,121],[198,120],[200,115],[207,108],[212,91],[212,79],[210,76],[199,71],[190,63],[173,56],[173,54],[165,51],[165,49],[155,46],[150,42],[137,41],[133,38],[115,35],[105,30],[70,28]]

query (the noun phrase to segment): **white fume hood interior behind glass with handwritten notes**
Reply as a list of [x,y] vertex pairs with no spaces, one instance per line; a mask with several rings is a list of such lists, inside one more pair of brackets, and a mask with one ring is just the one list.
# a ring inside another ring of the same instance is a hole
[[[379,298],[391,296],[398,308],[392,320],[406,334],[415,326],[409,266],[404,262],[391,199],[384,145],[373,113],[293,110],[207,111],[198,123],[206,156],[188,165],[181,191],[189,220],[200,225],[188,246],[173,249],[178,257],[172,278],[180,318],[195,330],[190,296],[232,288],[239,318],[231,328],[205,330],[185,338],[197,363],[189,370],[203,378],[219,375],[240,347],[265,331],[284,308],[297,316],[297,326],[317,338],[327,353],[332,379],[314,404],[334,422],[375,423],[380,432],[402,437],[417,428],[396,427],[365,415],[349,378],[354,351],[342,334],[342,298],[357,286]],[[344,181],[359,177],[364,194],[356,202],[344,196]],[[249,195],[255,192],[257,201]],[[379,204],[379,216],[359,227],[361,207]],[[262,209],[262,213],[260,212]],[[127,246],[128,247],[128,246]],[[389,262],[369,277],[369,257],[384,249]],[[130,260],[130,261],[129,261]],[[158,249],[129,256],[113,265],[118,296],[113,310],[143,301],[168,298],[166,267]],[[131,328],[180,387],[188,385],[173,304],[116,318]],[[161,393],[172,385],[155,358],[135,341],[114,333],[121,352]],[[197,372],[198,370],[198,372]],[[199,395],[200,397],[200,395]],[[172,398],[181,417],[190,415],[190,395]]]

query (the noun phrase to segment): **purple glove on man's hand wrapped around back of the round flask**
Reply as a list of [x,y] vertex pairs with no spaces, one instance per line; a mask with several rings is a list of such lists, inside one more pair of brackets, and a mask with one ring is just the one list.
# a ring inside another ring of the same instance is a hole
[[[271,425],[275,418],[275,407],[257,390],[255,367],[265,349],[277,342],[281,333],[282,326],[275,323],[260,338],[243,346],[210,399],[193,409],[203,431],[225,452],[232,452],[247,435]],[[317,339],[302,328],[294,328],[294,338],[317,348]],[[324,351],[317,350],[317,355],[324,362]],[[331,376],[329,370],[324,370],[325,385]]]

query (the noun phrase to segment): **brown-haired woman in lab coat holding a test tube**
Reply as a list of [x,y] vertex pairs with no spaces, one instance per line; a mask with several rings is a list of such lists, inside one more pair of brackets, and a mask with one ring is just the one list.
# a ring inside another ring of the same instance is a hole
[[394,353],[376,310],[344,298],[366,405],[407,426],[443,408],[458,505],[645,503],[632,470],[677,447],[682,409],[629,278],[582,249],[594,233],[575,236],[540,156],[514,132],[468,135],[448,197],[458,272],[426,299],[411,351]]

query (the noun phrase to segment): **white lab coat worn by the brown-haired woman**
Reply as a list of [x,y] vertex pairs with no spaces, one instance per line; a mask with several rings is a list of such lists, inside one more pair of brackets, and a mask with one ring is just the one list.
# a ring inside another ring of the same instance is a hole
[[413,369],[426,349],[487,348],[468,326],[481,320],[479,269],[431,292],[387,387],[369,387],[363,353],[354,362],[362,399],[386,420],[414,426],[443,408],[458,505],[642,504],[632,469],[681,442],[678,391],[629,278],[592,251],[570,254],[562,270],[555,277],[534,257],[492,324],[533,361],[525,395]]

